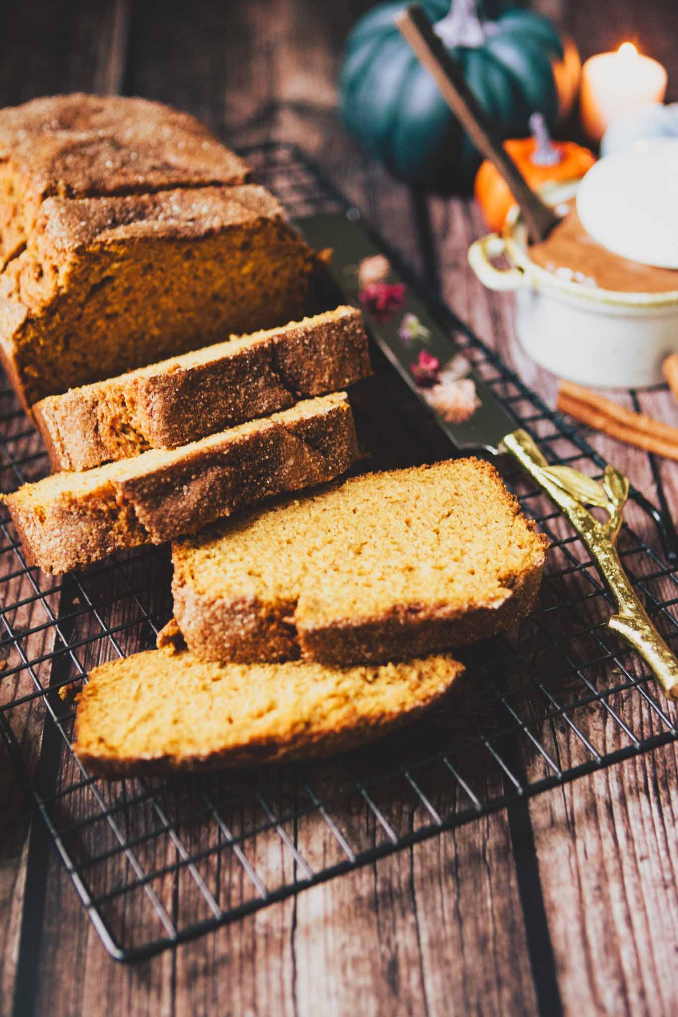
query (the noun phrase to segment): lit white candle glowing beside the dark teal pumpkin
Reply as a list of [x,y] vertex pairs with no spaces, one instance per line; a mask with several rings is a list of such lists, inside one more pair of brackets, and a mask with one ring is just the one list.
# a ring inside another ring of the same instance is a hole
[[631,43],[623,43],[616,53],[591,57],[581,68],[583,130],[592,140],[600,141],[612,120],[663,102],[666,80],[662,64],[642,56]]

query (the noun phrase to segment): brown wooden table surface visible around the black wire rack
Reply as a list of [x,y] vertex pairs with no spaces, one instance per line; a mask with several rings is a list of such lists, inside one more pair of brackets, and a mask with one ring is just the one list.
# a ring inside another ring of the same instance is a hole
[[[296,141],[430,275],[409,192],[336,120],[343,40],[367,6],[3,4],[0,105],[75,89],[140,95],[196,114],[234,144]],[[637,39],[668,66],[669,98],[678,98],[673,0],[619,0],[614,16],[609,5],[576,0],[539,6],[584,56]],[[445,298],[552,404],[555,379],[517,348],[510,299],[483,290],[468,267],[467,247],[483,231],[477,210],[436,197],[429,213]],[[648,412],[678,422],[666,393],[640,398]],[[656,498],[646,456],[592,441]],[[676,466],[658,466],[675,517]],[[39,733],[24,732],[27,750]],[[582,777],[133,967],[108,957],[55,850],[34,852],[27,868],[29,807],[5,760],[2,1013],[669,1017],[678,1012],[676,760],[670,744]]]

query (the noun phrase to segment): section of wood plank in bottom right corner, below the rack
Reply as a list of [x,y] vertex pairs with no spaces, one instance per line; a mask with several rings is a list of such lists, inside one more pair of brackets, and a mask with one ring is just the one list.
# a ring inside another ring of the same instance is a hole
[[675,772],[670,746],[531,803],[567,1014],[676,1012]]

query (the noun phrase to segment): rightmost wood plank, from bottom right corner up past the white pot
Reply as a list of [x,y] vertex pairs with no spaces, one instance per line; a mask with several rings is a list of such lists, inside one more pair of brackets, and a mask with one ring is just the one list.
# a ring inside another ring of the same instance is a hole
[[[436,201],[434,222],[441,237],[447,299],[553,406],[557,379],[522,354],[514,338],[512,300],[484,293],[460,257],[483,230],[477,212],[461,201]],[[631,405],[630,397],[624,394],[607,395]],[[644,412],[678,422],[678,408],[669,394],[644,393],[639,398]],[[605,459],[627,472],[641,491],[657,500],[646,456],[604,435],[587,436]],[[676,471],[665,463],[661,472],[675,518]],[[653,524],[644,514],[629,505],[626,516],[646,539],[656,543]],[[649,692],[667,708],[652,685]],[[563,691],[553,689],[553,693],[559,702],[567,702]],[[612,698],[610,706],[638,737],[650,730],[664,729],[652,708],[633,691]],[[542,702],[533,714],[544,707]],[[675,707],[667,709],[675,722]],[[569,717],[601,752],[628,743],[619,725],[601,707],[579,710]],[[548,738],[547,727],[542,724],[533,730],[538,735],[541,731],[550,746],[554,741]],[[590,758],[578,736],[562,722],[558,724],[557,738],[561,766]],[[530,802],[565,1013],[675,1012],[677,993],[673,979],[662,975],[671,964],[678,915],[673,822],[675,757],[675,746],[667,746]],[[529,777],[544,775],[541,760],[526,762]]]

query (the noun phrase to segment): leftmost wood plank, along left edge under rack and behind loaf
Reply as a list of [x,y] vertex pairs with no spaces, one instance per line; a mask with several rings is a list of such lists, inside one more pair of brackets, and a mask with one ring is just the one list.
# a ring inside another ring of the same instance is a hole
[[[115,91],[121,74],[122,40],[124,37],[123,0],[97,5],[88,3],[42,2],[14,4],[3,11],[5,45],[0,60],[0,106],[13,105],[35,96],[56,92]],[[6,398],[2,411],[7,412]],[[10,438],[11,434],[26,433],[26,437]],[[20,415],[4,425],[4,437],[16,459],[35,456],[41,442],[25,418]],[[30,469],[46,469],[46,464],[34,461]],[[16,485],[2,464],[3,490]],[[12,551],[0,553],[2,575],[20,567]],[[41,589],[59,588],[58,582],[39,579]],[[28,579],[16,579],[2,584],[3,608],[15,631],[25,633],[19,647],[28,660],[50,653],[54,648],[53,630],[42,630],[49,620],[46,605],[54,613],[59,609],[59,593],[47,597],[45,603],[35,598]],[[26,601],[18,610],[11,603]],[[2,637],[5,632],[3,630]],[[4,645],[0,649],[3,669],[17,666],[17,648]],[[37,668],[39,680],[47,685],[50,665]],[[17,696],[35,691],[27,672],[1,679],[0,699],[3,704]],[[28,771],[36,767],[43,729],[44,708],[40,701],[8,712],[15,737],[19,741]],[[3,753],[5,750],[3,750]],[[0,846],[0,912],[3,915],[0,950],[3,964],[0,981],[0,1012],[9,1013],[15,989],[16,966],[22,931],[28,830],[30,810],[17,782],[11,764],[2,767],[0,776],[0,823],[4,836]]]

